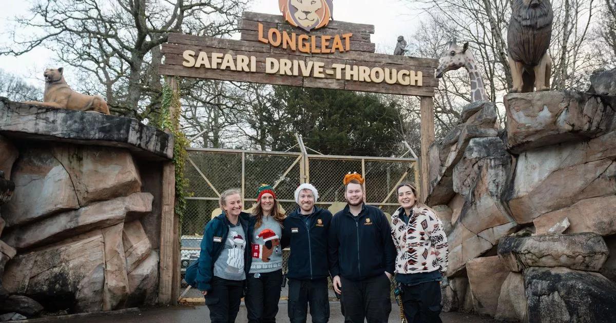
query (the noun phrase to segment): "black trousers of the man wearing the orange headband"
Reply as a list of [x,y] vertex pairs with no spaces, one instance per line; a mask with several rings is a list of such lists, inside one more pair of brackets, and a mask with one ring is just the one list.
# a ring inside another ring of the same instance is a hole
[[391,313],[391,282],[383,273],[363,281],[341,277],[344,321],[363,323],[387,322]]

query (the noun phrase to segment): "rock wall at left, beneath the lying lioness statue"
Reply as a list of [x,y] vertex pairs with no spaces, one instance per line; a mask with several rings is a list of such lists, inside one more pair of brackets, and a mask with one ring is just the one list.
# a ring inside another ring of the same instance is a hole
[[[162,162],[134,119],[0,98],[0,314],[110,311],[158,293]],[[0,185],[1,186],[1,185]]]

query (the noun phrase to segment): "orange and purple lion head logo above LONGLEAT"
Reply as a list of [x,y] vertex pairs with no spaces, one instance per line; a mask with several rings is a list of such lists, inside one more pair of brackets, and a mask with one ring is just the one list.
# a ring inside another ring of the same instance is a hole
[[330,23],[333,0],[278,0],[280,12],[291,25],[310,31]]

